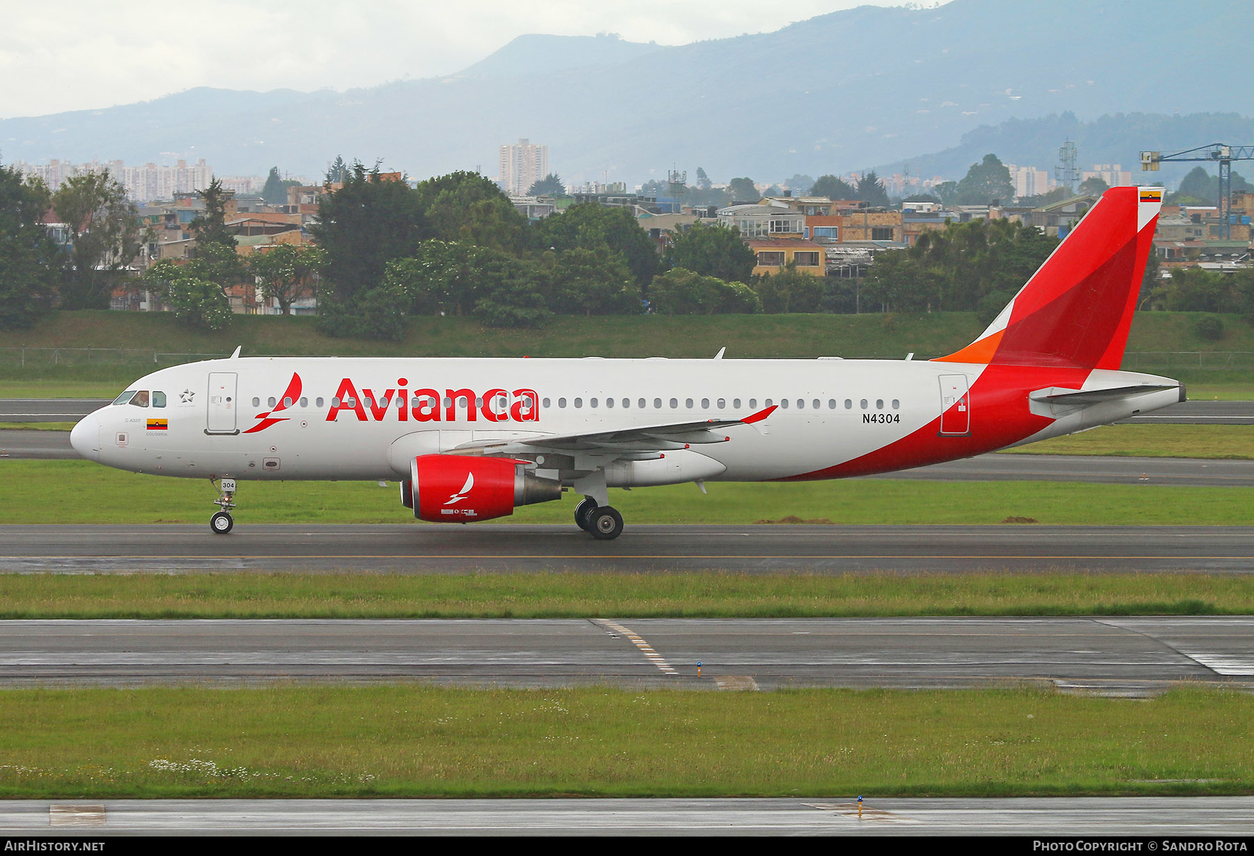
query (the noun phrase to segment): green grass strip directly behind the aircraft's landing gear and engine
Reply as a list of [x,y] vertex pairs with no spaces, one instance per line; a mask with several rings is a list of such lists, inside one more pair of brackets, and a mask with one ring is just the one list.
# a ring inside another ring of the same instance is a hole
[[[204,523],[216,496],[207,479],[142,476],[89,461],[0,459],[6,523]],[[415,523],[395,483],[241,482],[236,525]],[[612,490],[633,523],[752,523],[790,517],[831,523],[1246,525],[1254,495],[1229,487],[1075,482],[843,479],[710,483]],[[573,497],[518,508],[498,522],[571,523]]]

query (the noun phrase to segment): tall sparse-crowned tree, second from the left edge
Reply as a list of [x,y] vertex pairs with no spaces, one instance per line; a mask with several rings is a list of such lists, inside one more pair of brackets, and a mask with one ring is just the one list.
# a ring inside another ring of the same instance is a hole
[[135,206],[108,169],[70,176],[51,196],[69,233],[60,287],[63,309],[108,309],[120,271],[139,255],[144,235]]

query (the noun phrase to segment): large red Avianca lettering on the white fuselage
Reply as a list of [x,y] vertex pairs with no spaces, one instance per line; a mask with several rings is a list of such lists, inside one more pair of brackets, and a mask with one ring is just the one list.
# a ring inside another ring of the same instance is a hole
[[459,409],[465,422],[479,418],[484,422],[540,419],[540,402],[534,389],[475,392],[445,388],[441,393],[430,387],[410,390],[408,384],[409,380],[399,378],[393,389],[376,393],[371,387],[362,387],[359,392],[351,378],[344,378],[331,399],[326,420],[336,422],[340,413],[349,412],[357,417],[357,422],[458,422]]

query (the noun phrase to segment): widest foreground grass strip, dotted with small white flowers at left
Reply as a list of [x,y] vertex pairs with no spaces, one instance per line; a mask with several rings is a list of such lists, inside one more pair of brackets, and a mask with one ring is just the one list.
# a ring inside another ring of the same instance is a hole
[[1250,793],[1251,718],[1218,689],[13,689],[0,797]]

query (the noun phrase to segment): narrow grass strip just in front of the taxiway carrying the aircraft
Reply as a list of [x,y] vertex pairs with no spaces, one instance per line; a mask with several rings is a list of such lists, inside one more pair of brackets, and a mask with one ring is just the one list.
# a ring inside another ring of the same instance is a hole
[[1240,574],[0,574],[0,619],[1249,615]]

